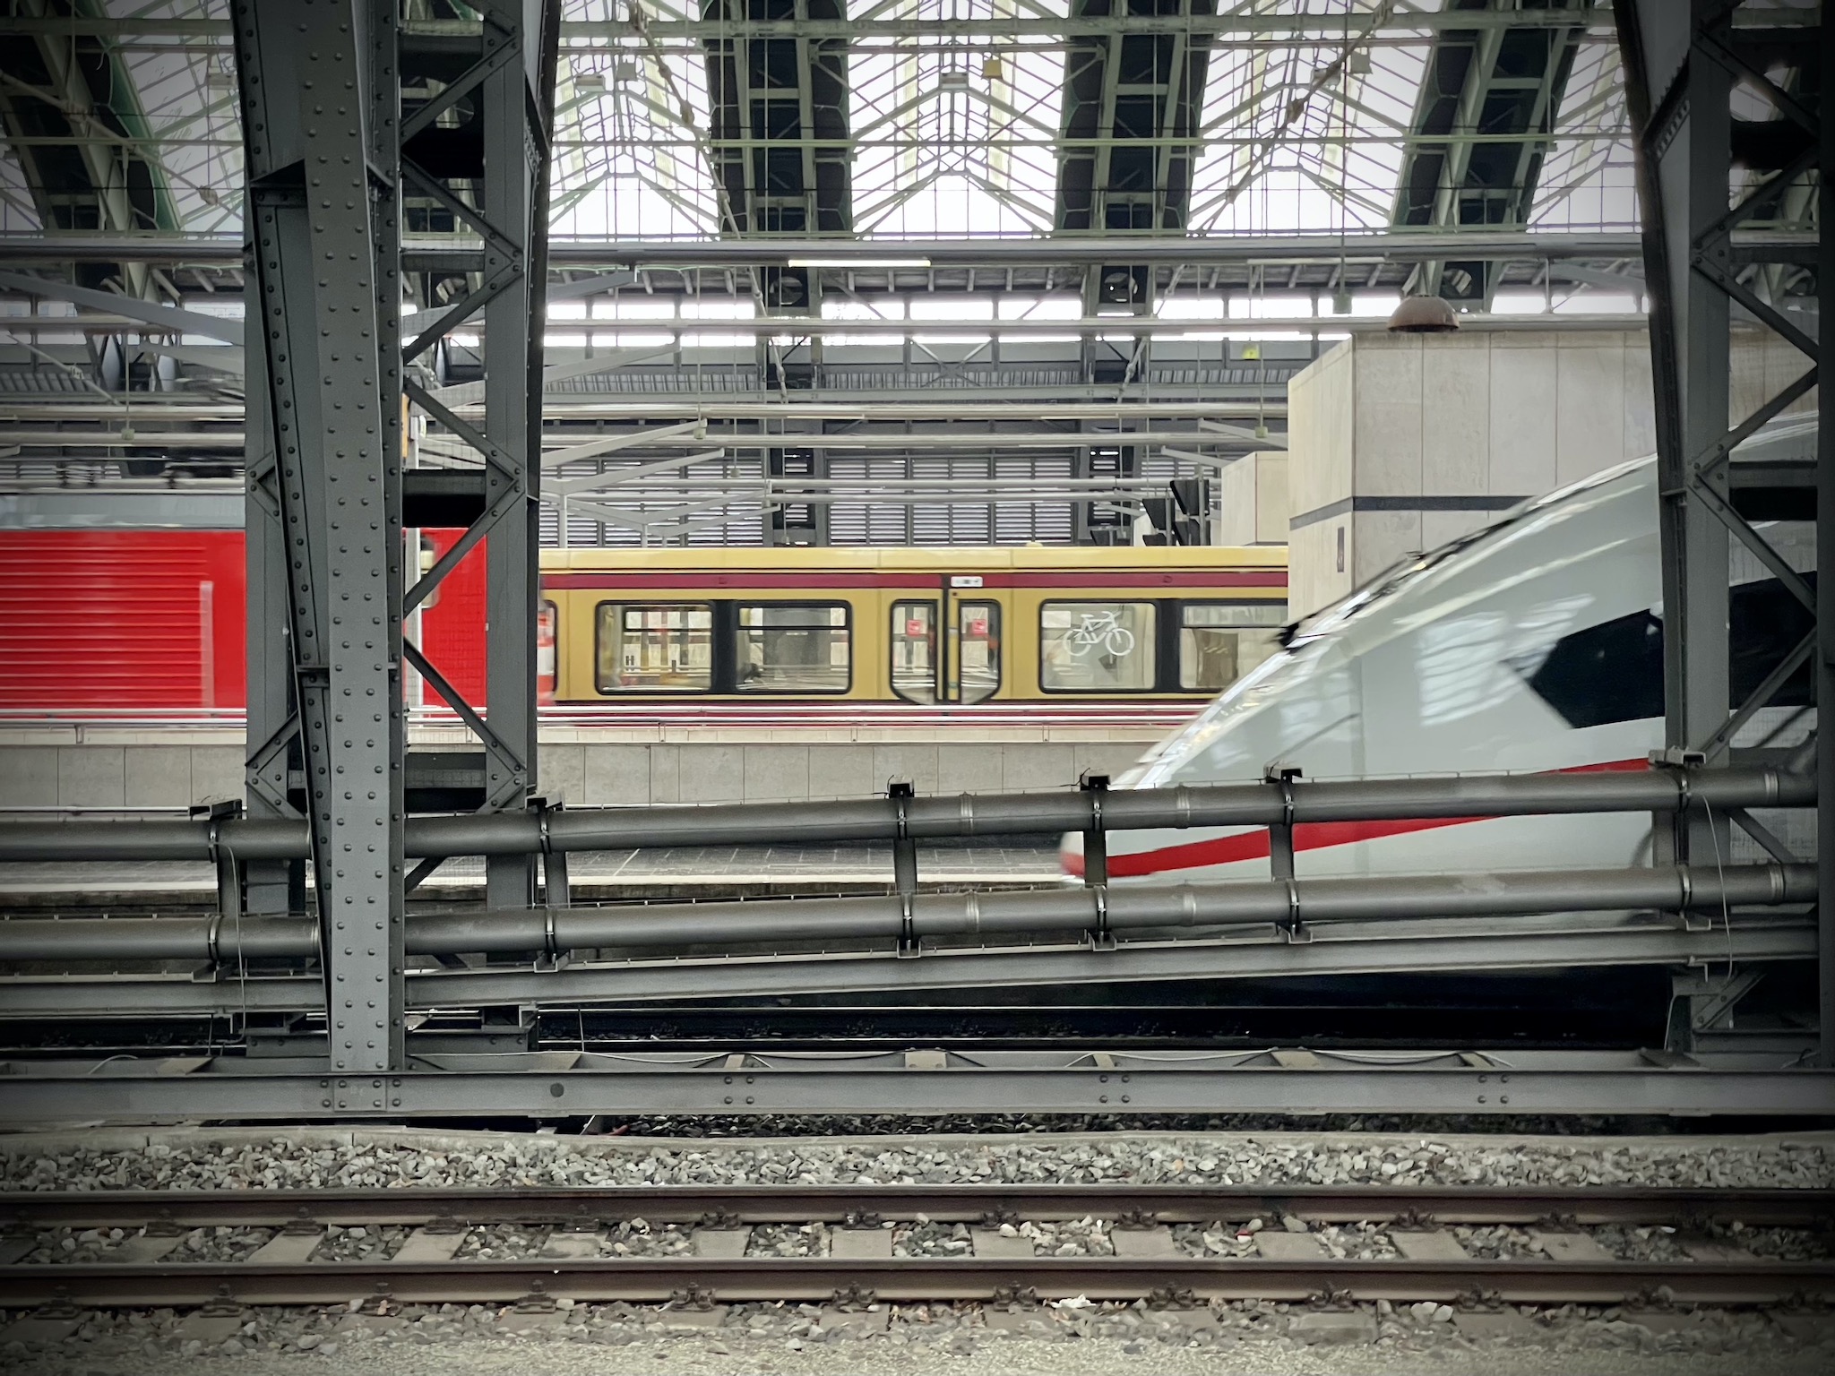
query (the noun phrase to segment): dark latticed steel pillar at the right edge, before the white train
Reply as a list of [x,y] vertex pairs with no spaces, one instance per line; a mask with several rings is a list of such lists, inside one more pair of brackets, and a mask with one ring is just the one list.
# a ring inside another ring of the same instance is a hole
[[[1659,503],[1663,538],[1664,699],[1668,743],[1677,758],[1690,752],[1725,763],[1736,730],[1774,699],[1806,659],[1813,664],[1815,701],[1835,701],[1835,613],[1818,616],[1800,651],[1762,682],[1745,703],[1732,701],[1729,580],[1730,541],[1738,539],[1793,593],[1811,615],[1835,596],[1828,583],[1811,587],[1736,505],[1730,453],[1765,420],[1780,415],[1817,383],[1818,345],[1795,321],[1760,299],[1749,275],[1771,262],[1804,264],[1806,257],[1767,255],[1736,246],[1736,229],[1774,218],[1780,193],[1811,174],[1820,160],[1822,205],[1828,205],[1828,121],[1815,99],[1785,86],[1817,92],[1829,72],[1829,26],[1762,29],[1741,24],[1738,0],[1690,0],[1688,22],[1677,6],[1637,0],[1615,11],[1624,55],[1628,105],[1644,213],[1644,275],[1652,295]],[[1749,22],[1749,20],[1747,20]],[[1780,86],[1767,72],[1798,73]],[[1776,121],[1734,119],[1734,88],[1769,101]],[[1780,141],[1776,128],[1795,134]],[[1734,180],[1734,149],[1749,178]],[[1767,161],[1767,154],[1774,154]],[[1736,185],[1729,193],[1729,185]],[[1831,288],[1829,248],[1818,235],[1818,288]],[[1795,345],[1809,367],[1747,416],[1730,416],[1730,323],[1734,308]],[[1835,464],[1829,449],[1828,389],[1822,396],[1820,462],[1817,464],[1818,547],[1835,558]],[[1817,769],[1835,780],[1835,732],[1818,730]],[[1822,1060],[1835,1064],[1835,807],[1818,811],[1820,857],[1820,1035]],[[1727,844],[1727,818],[1694,818],[1674,829],[1677,855],[1716,855]]]

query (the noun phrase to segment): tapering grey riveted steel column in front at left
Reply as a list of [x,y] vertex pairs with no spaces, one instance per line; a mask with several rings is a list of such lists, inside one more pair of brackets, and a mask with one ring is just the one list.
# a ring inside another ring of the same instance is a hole
[[327,1106],[382,1108],[374,1075],[402,1068],[404,827],[400,374],[378,301],[400,288],[395,189],[374,161],[389,97],[373,105],[373,86],[393,66],[373,42],[393,48],[393,6],[235,0],[231,17],[330,1070],[350,1075]]

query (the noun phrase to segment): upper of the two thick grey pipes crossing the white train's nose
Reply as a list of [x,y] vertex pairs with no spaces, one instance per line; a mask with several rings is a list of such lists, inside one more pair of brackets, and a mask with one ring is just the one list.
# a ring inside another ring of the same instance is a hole
[[[1674,813],[1683,807],[1813,807],[1815,778],[1769,767],[1629,769],[1585,774],[1468,774],[1398,780],[1294,780],[1292,820],[1385,822],[1551,813]],[[1255,827],[1288,815],[1281,785],[1218,783],[1174,789],[1110,789],[1101,815],[1086,791],[989,793],[912,798],[905,835],[919,840],[985,835],[1055,835],[1184,827]],[[209,822],[0,824],[0,860],[207,860]],[[220,842],[242,860],[306,855],[303,822],[226,820]],[[646,846],[756,846],[796,842],[890,842],[897,809],[886,798],[807,804],[716,804],[690,807],[580,807],[549,818],[556,851]],[[532,855],[541,829],[525,813],[472,813],[407,820],[409,859]]]

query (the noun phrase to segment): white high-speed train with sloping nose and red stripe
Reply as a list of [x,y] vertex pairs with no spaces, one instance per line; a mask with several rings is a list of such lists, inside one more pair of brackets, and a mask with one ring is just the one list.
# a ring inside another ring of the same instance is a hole
[[[1736,461],[1798,453],[1815,453],[1813,424],[1774,424]],[[1769,528],[1807,572],[1802,532]],[[1738,547],[1732,571],[1738,703],[1811,618]],[[1800,671],[1780,705],[1804,703]],[[1661,747],[1657,473],[1640,459],[1523,503],[1290,627],[1281,651],[1114,787],[1253,782],[1275,763],[1305,778],[1646,769]],[[1650,818],[1303,824],[1294,849],[1301,877],[1611,868],[1648,862]],[[1081,835],[1064,837],[1062,862],[1083,873]],[[1108,873],[1266,879],[1268,831],[1114,833]]]

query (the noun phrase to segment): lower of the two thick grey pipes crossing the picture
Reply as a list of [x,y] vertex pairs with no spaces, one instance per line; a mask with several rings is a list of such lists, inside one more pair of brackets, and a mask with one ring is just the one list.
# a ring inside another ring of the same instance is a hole
[[[1543,912],[1664,912],[1807,903],[1807,864],[1653,870],[1527,870],[1472,875],[1374,875],[1292,882],[1123,884],[910,899],[916,938],[1075,930],[1163,930],[1501,917]],[[899,895],[765,903],[624,904],[439,912],[407,919],[407,952],[578,950],[776,941],[883,941],[905,932]],[[0,923],[0,960],[233,960],[306,956],[314,923],[297,917],[28,919]]]

